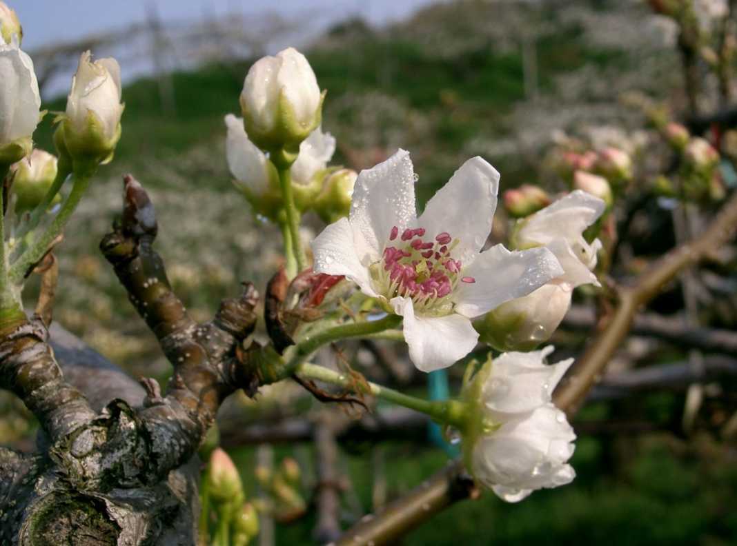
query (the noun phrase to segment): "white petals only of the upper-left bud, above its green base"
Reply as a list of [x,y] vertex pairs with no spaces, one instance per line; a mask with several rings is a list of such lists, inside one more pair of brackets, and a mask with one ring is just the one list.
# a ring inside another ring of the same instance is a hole
[[99,138],[116,140],[123,104],[120,102],[120,66],[112,57],[91,60],[91,53],[80,56],[77,73],[71,80],[66,102],[69,129],[75,135],[85,135],[94,126]]

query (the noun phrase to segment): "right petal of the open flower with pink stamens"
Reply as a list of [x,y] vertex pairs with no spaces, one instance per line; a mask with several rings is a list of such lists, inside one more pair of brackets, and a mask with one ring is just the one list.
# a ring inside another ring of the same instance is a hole
[[455,311],[470,318],[482,315],[562,274],[563,268],[546,248],[510,252],[497,244],[461,270],[462,277],[473,277],[475,282],[458,283],[453,293]]

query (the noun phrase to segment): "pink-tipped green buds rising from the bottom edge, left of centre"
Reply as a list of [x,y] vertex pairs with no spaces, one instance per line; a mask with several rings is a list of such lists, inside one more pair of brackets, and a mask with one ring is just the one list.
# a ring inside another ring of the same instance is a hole
[[246,546],[258,535],[256,507],[245,500],[238,470],[219,447],[210,455],[201,494],[200,545]]

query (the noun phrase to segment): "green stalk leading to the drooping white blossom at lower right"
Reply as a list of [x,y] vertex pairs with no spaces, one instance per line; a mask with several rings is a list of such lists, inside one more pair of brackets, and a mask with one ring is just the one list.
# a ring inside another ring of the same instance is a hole
[[[324,381],[325,383],[331,383],[332,385],[337,385],[345,389],[356,389],[357,387],[352,377],[325,368],[324,366],[310,364],[309,362],[299,364],[296,372],[300,377]],[[360,388],[361,385],[359,384],[358,386]],[[377,385],[376,383],[371,383],[370,381],[366,382],[366,386],[364,386],[363,390],[367,390],[368,394],[373,394],[375,397],[388,400],[388,402],[427,414],[437,422],[453,425],[461,430],[466,426],[467,405],[458,400],[424,400]]]

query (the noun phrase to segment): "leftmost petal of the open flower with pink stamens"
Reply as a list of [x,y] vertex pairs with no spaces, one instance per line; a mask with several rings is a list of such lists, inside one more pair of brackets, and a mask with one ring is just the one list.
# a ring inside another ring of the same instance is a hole
[[348,219],[341,218],[335,224],[326,227],[312,241],[312,254],[315,257],[312,269],[316,273],[345,275],[360,286],[363,294],[377,297],[374,288],[371,287],[368,269],[361,265],[355,249],[351,224]]

